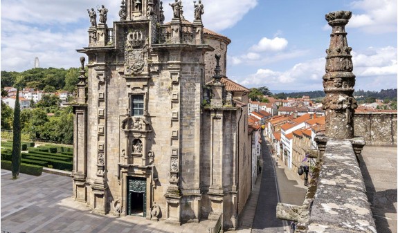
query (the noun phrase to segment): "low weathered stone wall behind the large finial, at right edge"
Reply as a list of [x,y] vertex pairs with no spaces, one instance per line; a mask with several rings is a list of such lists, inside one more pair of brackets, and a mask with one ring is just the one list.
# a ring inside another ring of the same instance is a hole
[[397,113],[355,113],[354,134],[366,145],[397,146]]

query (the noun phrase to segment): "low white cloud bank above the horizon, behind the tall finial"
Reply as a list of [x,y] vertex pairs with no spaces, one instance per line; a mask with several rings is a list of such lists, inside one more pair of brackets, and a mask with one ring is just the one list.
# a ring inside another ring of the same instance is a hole
[[[397,86],[397,48],[368,48],[361,53],[352,53],[355,88],[380,90]],[[285,71],[260,68],[256,73],[234,77],[244,86],[268,86],[271,89],[323,90],[322,77],[325,75],[325,57],[300,62]],[[390,86],[386,86],[389,84]],[[365,88],[364,88],[365,87]]]

